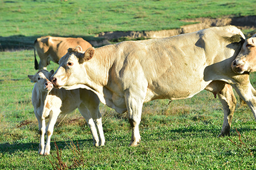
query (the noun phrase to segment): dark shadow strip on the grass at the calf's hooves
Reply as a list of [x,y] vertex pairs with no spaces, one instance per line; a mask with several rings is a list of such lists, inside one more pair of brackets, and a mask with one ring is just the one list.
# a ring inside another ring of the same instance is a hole
[[[92,139],[80,139],[80,140],[68,140],[68,141],[59,141],[56,142],[59,150],[63,150],[65,148],[70,148],[71,143],[74,143],[75,145],[78,144],[82,147],[94,147],[93,145],[93,140]],[[81,148],[82,148],[81,147]],[[39,143],[35,142],[28,142],[28,143],[23,143],[23,144],[0,144],[0,153],[2,154],[13,154],[18,151],[25,152],[25,151],[38,151],[39,150]],[[54,141],[51,142],[51,151],[55,151],[56,147],[54,145]]]

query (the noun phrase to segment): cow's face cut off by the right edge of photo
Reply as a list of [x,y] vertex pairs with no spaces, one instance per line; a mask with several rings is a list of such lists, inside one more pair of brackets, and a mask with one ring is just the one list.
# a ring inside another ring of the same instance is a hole
[[235,73],[256,71],[256,34],[243,43],[237,58],[232,62],[231,68]]

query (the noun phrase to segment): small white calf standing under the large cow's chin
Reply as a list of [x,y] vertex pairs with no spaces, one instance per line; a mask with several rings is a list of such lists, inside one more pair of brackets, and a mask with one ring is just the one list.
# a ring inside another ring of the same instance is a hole
[[[39,154],[50,154],[51,135],[53,135],[54,124],[59,115],[69,114],[76,108],[78,108],[91,129],[94,145],[104,145],[105,139],[101,114],[98,109],[100,100],[97,95],[86,89],[57,90],[53,88],[53,84],[49,80],[53,73],[53,70],[50,73],[46,70],[41,70],[35,75],[28,75],[31,82],[36,82],[32,92],[32,104],[39,124]],[[46,118],[49,118],[47,127],[45,127]],[[47,134],[46,145],[44,140],[45,132]]]

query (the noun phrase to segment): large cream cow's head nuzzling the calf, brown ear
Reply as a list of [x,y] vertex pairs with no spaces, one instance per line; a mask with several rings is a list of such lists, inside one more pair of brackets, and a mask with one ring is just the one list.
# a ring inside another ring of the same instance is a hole
[[68,53],[60,58],[59,68],[51,77],[51,82],[55,88],[65,88],[68,90],[79,88],[88,79],[86,69],[83,65],[94,55],[95,49],[91,47],[82,52],[82,47],[69,48]]

